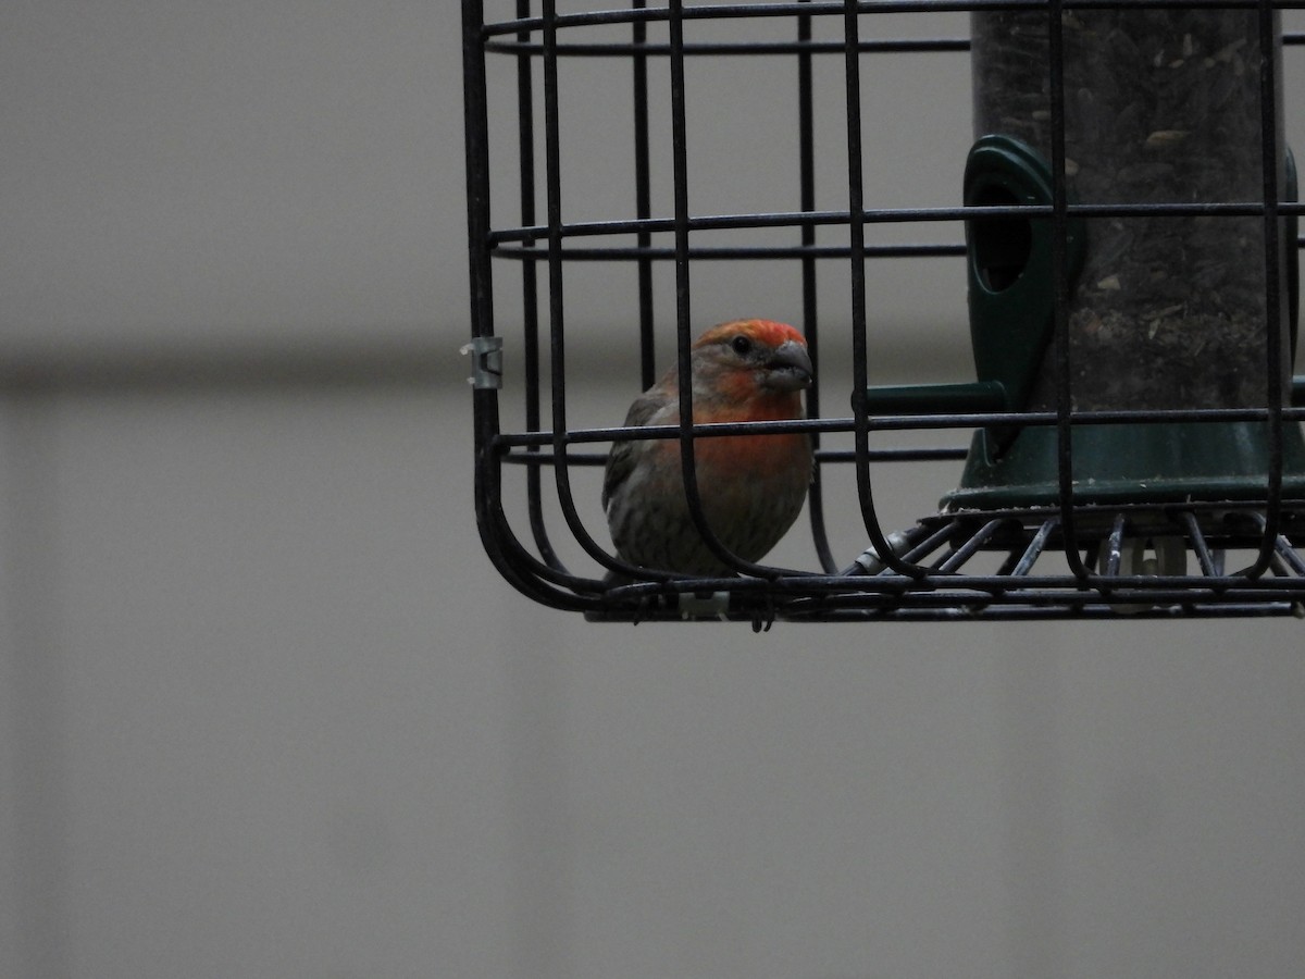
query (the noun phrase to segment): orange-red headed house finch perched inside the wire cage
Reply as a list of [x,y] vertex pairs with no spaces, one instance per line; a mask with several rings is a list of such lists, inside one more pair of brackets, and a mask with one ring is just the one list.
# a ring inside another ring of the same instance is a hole
[[[803,418],[812,362],[782,322],[735,320],[693,345],[693,423]],[[680,422],[675,368],[630,405],[626,426]],[[797,520],[812,478],[804,432],[698,436],[698,495],[707,526],[733,555],[760,561]],[[677,439],[617,441],[607,458],[603,509],[616,553],[630,564],[686,574],[732,574],[689,514]],[[617,581],[608,576],[608,583]]]

